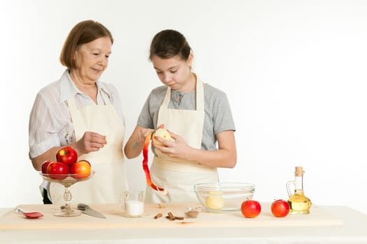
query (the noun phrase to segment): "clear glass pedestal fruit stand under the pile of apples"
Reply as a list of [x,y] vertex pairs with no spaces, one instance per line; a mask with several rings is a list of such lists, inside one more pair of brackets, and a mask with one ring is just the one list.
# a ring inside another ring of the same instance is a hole
[[65,206],[62,206],[61,211],[55,213],[57,217],[73,217],[80,215],[80,211],[75,211],[71,209],[70,201],[72,198],[70,187],[71,185],[79,182],[79,181],[87,181],[89,178],[92,178],[94,175],[94,171],[91,171],[90,174],[43,174],[40,172],[42,178],[46,181],[50,181],[53,183],[59,183],[64,185],[64,200]]

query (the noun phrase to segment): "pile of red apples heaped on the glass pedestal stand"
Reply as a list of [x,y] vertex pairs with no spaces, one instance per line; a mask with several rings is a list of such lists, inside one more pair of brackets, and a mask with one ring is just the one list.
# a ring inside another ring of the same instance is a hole
[[60,148],[56,153],[56,160],[43,162],[41,172],[55,180],[63,180],[68,176],[82,179],[90,175],[90,163],[87,160],[78,161],[78,153],[71,146]]

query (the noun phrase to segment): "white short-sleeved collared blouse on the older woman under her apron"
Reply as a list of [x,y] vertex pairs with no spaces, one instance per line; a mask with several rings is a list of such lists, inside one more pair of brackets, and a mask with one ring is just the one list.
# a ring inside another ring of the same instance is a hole
[[[120,96],[113,84],[96,82],[98,105],[104,105],[101,92],[107,94],[117,114],[125,123]],[[62,77],[38,92],[29,116],[29,156],[35,158],[54,146],[65,146],[75,141],[73,122],[67,100],[75,97],[78,108],[95,105],[94,101],[82,93],[73,83],[69,70]]]

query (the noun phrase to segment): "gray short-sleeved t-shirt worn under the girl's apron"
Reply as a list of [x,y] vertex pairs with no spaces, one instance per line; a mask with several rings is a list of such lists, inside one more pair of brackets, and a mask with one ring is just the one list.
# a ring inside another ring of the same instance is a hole
[[[150,92],[141,114],[138,125],[144,128],[157,128],[159,107],[166,95],[167,86],[159,86]],[[181,92],[171,90],[171,100],[168,104],[170,109],[196,109],[196,92]],[[204,125],[201,149],[217,150],[217,138],[215,135],[224,130],[236,130],[231,108],[226,94],[209,84],[204,84]],[[189,130],[189,128],[187,128]],[[174,131],[173,131],[174,133]]]

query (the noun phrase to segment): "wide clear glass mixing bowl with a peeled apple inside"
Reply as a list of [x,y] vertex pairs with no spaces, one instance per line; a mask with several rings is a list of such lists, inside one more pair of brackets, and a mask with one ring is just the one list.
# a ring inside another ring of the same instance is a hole
[[240,211],[243,201],[252,199],[251,183],[200,183],[194,185],[196,197],[208,212]]

